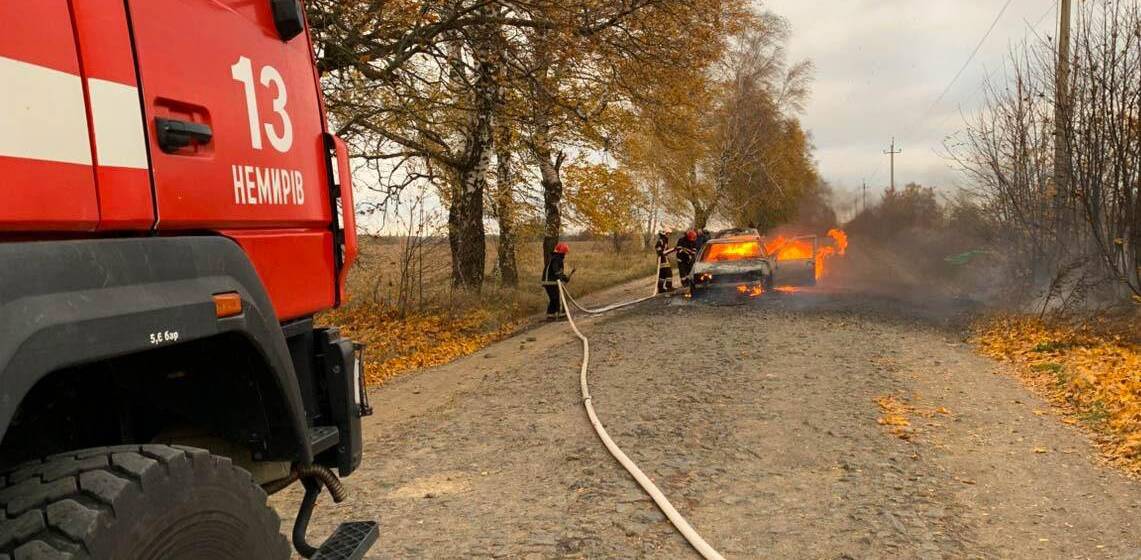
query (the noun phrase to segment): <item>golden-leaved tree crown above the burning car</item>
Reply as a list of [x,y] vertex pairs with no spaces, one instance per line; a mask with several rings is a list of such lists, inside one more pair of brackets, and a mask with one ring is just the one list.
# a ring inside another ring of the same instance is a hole
[[788,36],[778,16],[746,14],[717,58],[672,71],[661,94],[672,95],[670,103],[639,107],[628,162],[659,177],[673,213],[688,214],[695,227],[721,216],[768,229],[794,218],[819,181],[795,116],[811,65],[787,63]]

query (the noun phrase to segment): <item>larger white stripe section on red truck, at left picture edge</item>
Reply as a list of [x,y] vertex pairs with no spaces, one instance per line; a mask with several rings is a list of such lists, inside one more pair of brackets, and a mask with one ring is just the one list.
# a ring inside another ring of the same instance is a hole
[[90,165],[87,130],[78,75],[0,56],[0,155]]

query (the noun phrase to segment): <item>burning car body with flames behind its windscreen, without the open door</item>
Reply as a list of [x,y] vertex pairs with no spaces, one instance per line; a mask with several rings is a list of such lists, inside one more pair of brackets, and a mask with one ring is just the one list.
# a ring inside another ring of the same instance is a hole
[[694,298],[712,291],[760,295],[775,285],[775,270],[755,232],[718,237],[702,246],[689,277],[689,293]]

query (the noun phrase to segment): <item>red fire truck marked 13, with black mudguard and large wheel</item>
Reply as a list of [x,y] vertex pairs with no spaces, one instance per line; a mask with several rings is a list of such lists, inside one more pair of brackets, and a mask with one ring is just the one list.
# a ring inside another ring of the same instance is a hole
[[361,558],[355,257],[298,0],[0,0],[0,560]]

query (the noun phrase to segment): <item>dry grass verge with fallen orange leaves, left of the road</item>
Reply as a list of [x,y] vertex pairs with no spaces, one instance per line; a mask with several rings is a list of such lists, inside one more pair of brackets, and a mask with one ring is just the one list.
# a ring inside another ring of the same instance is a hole
[[[648,278],[656,270],[653,253],[640,247],[615,253],[608,241],[569,245],[567,269],[576,269],[569,284],[575,295]],[[402,240],[363,238],[361,257],[349,274],[349,301],[318,317],[321,324],[338,326],[366,344],[370,385],[477,352],[539,320],[545,310],[539,241],[517,247],[517,287],[501,285],[496,245],[488,242],[487,277],[479,293],[452,287],[446,240],[424,243],[411,259],[406,250]],[[408,263],[408,274],[402,274],[402,262]]]

